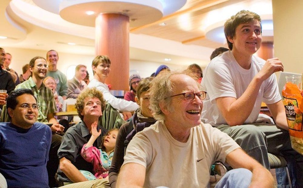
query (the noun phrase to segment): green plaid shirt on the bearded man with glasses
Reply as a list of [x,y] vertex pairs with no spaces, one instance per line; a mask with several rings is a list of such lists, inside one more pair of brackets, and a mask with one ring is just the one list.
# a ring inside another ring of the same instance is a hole
[[37,88],[36,83],[29,77],[28,80],[18,84],[16,89],[31,89],[34,92],[35,97],[39,105],[38,122],[48,122],[47,115],[57,111],[56,102],[51,89],[48,89],[44,83],[42,83],[40,89]]

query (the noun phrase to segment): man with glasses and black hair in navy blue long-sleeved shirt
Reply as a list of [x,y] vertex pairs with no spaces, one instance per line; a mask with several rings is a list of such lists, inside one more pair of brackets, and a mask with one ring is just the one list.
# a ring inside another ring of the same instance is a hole
[[48,187],[52,131],[36,122],[38,108],[30,89],[17,89],[8,96],[11,122],[0,123],[0,173],[8,187]]

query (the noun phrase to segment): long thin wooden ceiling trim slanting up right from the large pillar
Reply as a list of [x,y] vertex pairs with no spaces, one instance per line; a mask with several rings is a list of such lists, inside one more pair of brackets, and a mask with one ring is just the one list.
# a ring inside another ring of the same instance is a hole
[[230,0],[210,0],[210,1],[207,1],[207,2],[203,1],[203,2],[201,2],[201,3],[199,3],[199,4],[195,5],[195,6],[192,6],[190,8],[187,8],[187,9],[184,9],[184,10],[180,10],[178,12],[174,12],[174,13],[172,13],[170,15],[167,15],[167,16],[161,18],[160,20],[158,20],[156,22],[132,28],[132,29],[130,29],[130,32],[135,32],[135,31],[138,31],[140,29],[147,28],[147,27],[149,27],[151,25],[155,25],[155,24],[159,24],[159,23],[165,22],[168,19],[174,18],[176,16],[179,16],[179,15],[182,15],[182,14],[185,14],[185,13],[194,12],[194,11],[201,10],[201,9],[204,9],[204,8],[209,8],[209,7],[212,7],[212,6],[224,3],[224,2],[228,2],[228,1],[230,1]]

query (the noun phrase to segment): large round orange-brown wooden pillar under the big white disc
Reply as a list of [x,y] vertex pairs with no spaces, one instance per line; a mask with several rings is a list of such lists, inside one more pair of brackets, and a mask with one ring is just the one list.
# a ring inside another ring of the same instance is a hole
[[105,82],[112,90],[129,90],[129,17],[101,13],[95,28],[95,54],[108,55],[111,60],[111,72]]

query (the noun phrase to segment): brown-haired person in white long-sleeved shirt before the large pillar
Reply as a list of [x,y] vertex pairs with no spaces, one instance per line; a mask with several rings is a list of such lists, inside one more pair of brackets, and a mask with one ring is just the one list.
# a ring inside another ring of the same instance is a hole
[[92,61],[92,69],[94,72],[94,79],[92,79],[88,88],[96,87],[100,90],[104,96],[106,102],[108,102],[113,108],[123,112],[124,120],[132,117],[131,112],[138,108],[135,102],[119,99],[113,96],[109,92],[108,86],[105,84],[105,79],[111,70],[111,61],[106,55],[98,55]]

